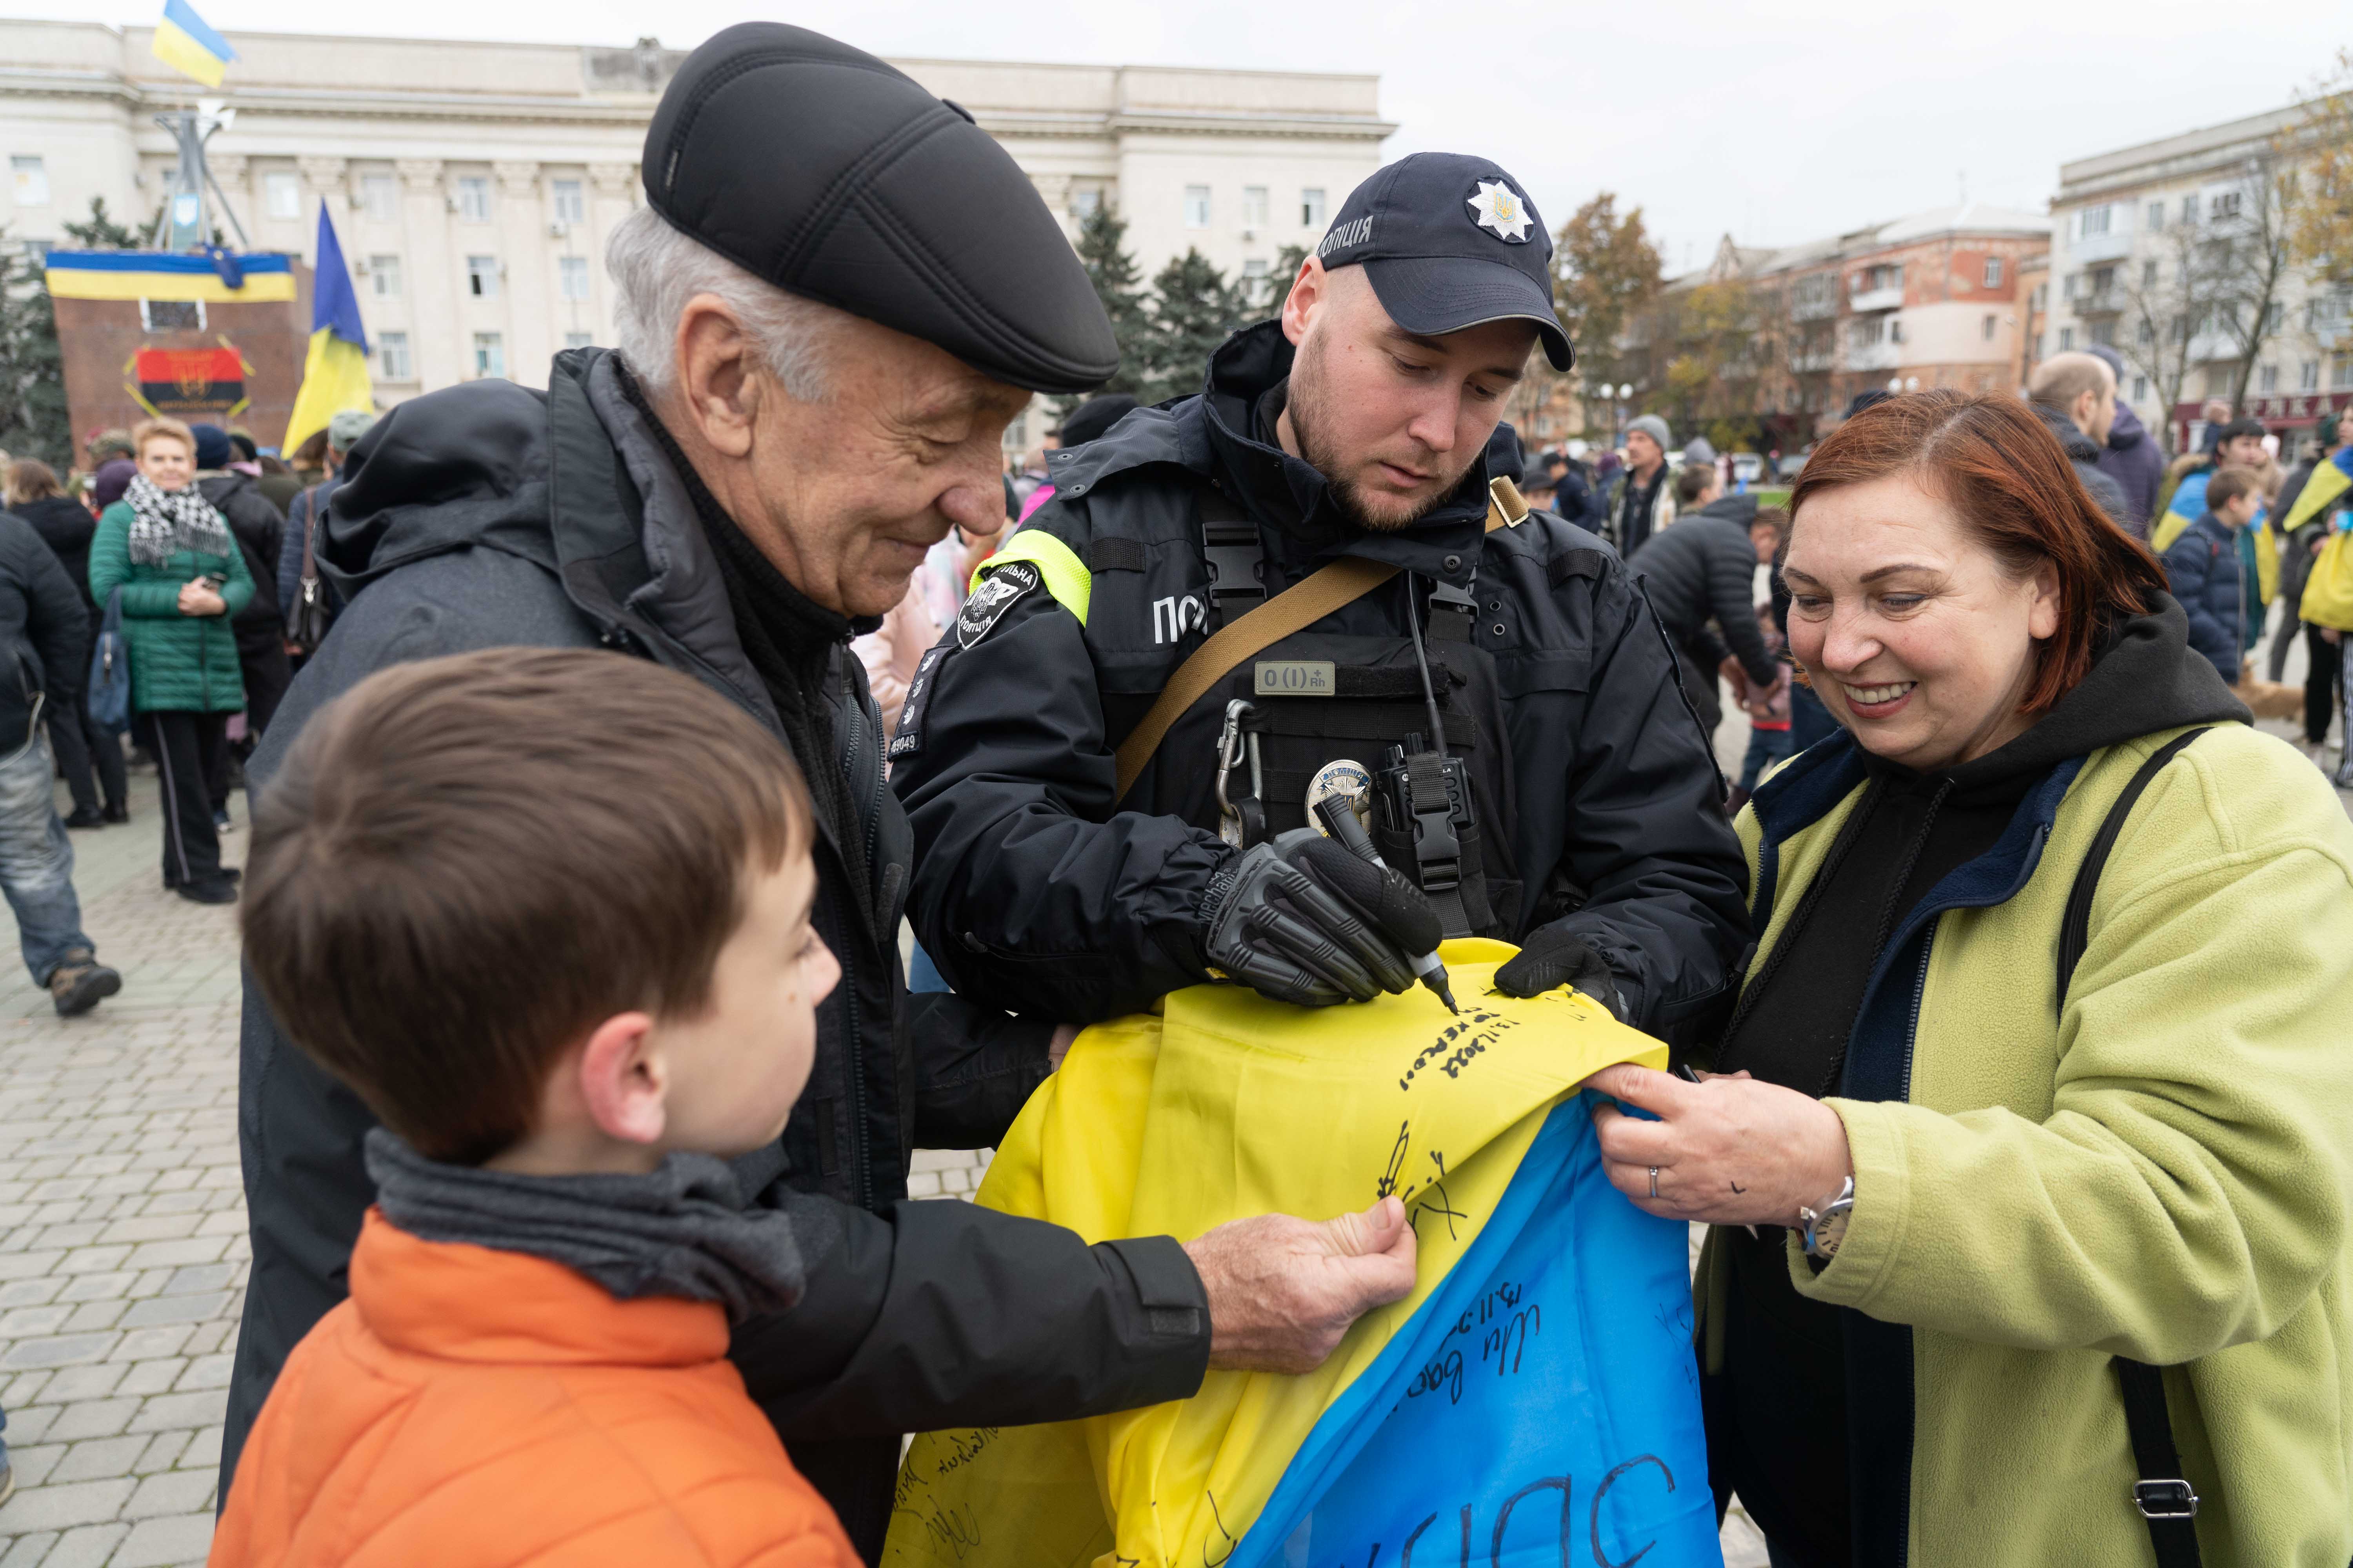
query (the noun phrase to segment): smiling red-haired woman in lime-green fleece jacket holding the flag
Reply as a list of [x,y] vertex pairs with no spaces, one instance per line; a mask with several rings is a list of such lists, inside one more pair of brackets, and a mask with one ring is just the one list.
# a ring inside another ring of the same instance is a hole
[[1619,1190],[1715,1225],[1718,1497],[1795,1566],[2341,1568],[2344,806],[2021,402],[1866,409],[1793,512],[1842,731],[1739,818],[1725,1077],[1595,1079],[1659,1117],[1595,1112]]

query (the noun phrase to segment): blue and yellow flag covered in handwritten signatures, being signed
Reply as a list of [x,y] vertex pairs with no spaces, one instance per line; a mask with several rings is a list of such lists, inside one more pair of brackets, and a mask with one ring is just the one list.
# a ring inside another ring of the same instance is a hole
[[918,1436],[885,1566],[1718,1563],[1687,1227],[1607,1182],[1577,1088],[1666,1046],[1569,990],[1499,994],[1511,954],[1440,950],[1459,1018],[1195,985],[1080,1034],[981,1204],[1101,1241],[1398,1194],[1414,1291],[1306,1375]]

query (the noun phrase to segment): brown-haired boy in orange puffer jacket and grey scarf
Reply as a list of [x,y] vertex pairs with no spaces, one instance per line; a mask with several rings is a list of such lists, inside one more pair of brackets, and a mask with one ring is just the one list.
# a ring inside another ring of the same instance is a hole
[[727,1361],[802,1279],[725,1161],[784,1131],[840,978],[809,839],[767,731],[616,654],[400,665],[308,724],[245,954],[381,1119],[379,1199],[214,1563],[856,1563]]

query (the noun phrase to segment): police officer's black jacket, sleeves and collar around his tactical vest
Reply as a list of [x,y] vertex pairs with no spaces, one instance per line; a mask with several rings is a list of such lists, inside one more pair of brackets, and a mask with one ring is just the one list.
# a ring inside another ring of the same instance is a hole
[[[1289,364],[1278,324],[1252,327],[1212,357],[1200,397],[1139,409],[1056,454],[1054,501],[1028,527],[1096,567],[1085,625],[1026,592],[972,646],[946,637],[953,651],[892,745],[918,851],[908,919],[925,950],[967,997],[1068,1020],[1207,978],[1200,900],[1233,851],[1176,816],[1115,811],[1113,748],[1202,642],[1195,618],[1162,637],[1176,618],[1162,611],[1198,609],[1207,592],[1198,496],[1214,477],[1259,524],[1280,585],[1341,555],[1414,574],[1315,632],[1398,637],[1402,592],[1461,585],[1475,569],[1475,646],[1497,663],[1518,790],[1511,863],[1532,891],[1569,889],[1529,896],[1515,936],[1537,912],[1558,919],[1609,961],[1640,1027],[1706,1013],[1748,945],[1741,856],[1633,581],[1607,545],[1548,512],[1482,534],[1487,475],[1508,473],[1499,463],[1518,447],[1504,428],[1412,529],[1358,529],[1315,468],[1257,437],[1259,400]],[[1099,531],[1113,550],[1094,552]],[[1165,543],[1134,545],[1144,534]]]

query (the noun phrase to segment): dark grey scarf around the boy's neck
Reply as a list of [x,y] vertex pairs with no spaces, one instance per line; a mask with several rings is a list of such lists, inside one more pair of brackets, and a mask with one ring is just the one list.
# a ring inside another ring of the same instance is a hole
[[384,1218],[426,1241],[529,1253],[621,1300],[685,1295],[741,1324],[800,1300],[793,1222],[744,1208],[725,1161],[671,1154],[652,1175],[511,1175],[426,1159],[381,1126],[367,1173]]

